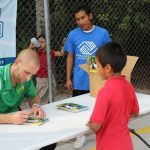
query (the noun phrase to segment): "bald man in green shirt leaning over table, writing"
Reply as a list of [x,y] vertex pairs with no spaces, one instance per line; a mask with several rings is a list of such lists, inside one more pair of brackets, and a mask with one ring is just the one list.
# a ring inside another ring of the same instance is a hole
[[[44,117],[40,98],[30,80],[39,67],[39,57],[30,49],[22,50],[13,64],[0,67],[0,123],[24,124],[29,115]],[[18,110],[24,97],[32,108],[30,112]]]

